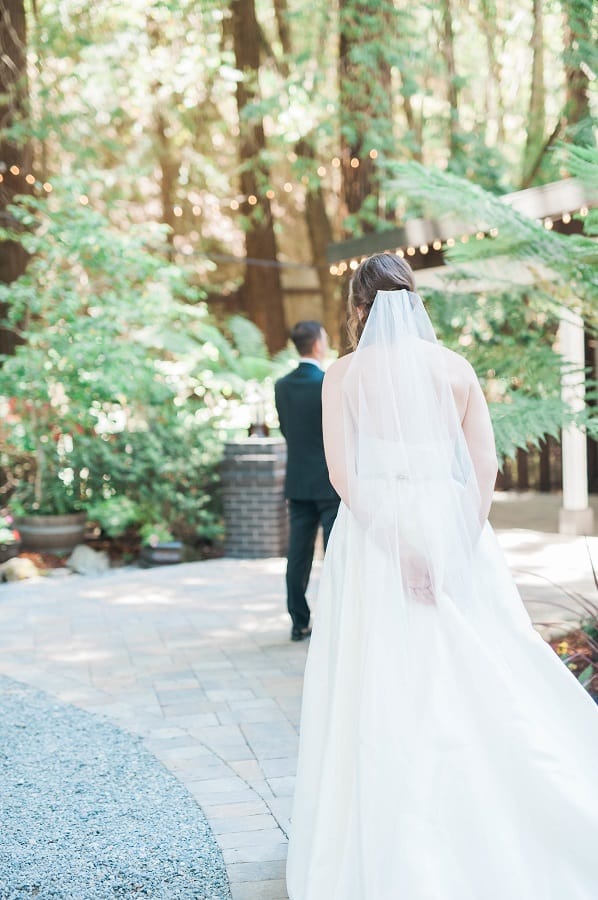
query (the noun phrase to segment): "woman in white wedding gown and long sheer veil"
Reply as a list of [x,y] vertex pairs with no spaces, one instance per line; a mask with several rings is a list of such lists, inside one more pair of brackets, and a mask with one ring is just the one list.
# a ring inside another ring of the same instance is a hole
[[471,366],[413,274],[355,271],[328,370],[342,498],[311,638],[291,900],[596,900],[598,710],[534,631],[487,522]]

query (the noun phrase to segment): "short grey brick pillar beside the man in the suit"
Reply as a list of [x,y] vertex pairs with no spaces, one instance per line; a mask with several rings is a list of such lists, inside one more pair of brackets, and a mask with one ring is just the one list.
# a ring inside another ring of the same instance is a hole
[[286,458],[282,438],[226,443],[221,466],[226,556],[286,556]]

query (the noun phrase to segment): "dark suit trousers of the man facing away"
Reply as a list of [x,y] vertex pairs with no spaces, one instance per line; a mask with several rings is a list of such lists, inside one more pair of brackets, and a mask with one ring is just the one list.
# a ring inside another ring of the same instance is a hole
[[305,592],[314,558],[318,525],[322,525],[324,549],[338,512],[334,500],[289,500],[289,552],[287,558],[287,605],[293,628],[307,628],[310,609]]

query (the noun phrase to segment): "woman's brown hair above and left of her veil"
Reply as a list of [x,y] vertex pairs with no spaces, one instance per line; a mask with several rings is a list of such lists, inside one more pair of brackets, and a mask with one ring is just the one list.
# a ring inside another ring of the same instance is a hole
[[[376,253],[355,269],[349,285],[347,334],[354,350],[378,291],[415,291],[413,270],[394,253]],[[361,318],[358,310],[361,310]]]

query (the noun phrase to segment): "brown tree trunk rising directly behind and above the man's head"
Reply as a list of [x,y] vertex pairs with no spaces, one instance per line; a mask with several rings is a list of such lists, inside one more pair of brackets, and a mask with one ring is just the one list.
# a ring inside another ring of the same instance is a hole
[[[246,198],[242,213],[247,222],[247,269],[242,299],[246,312],[264,332],[269,349],[275,352],[286,345],[287,330],[280,270],[276,265],[274,220],[266,197],[269,178],[262,158],[266,139],[261,117],[246,113],[246,107],[259,99],[260,34],[254,0],[232,0],[231,10],[236,65],[243,74],[237,82],[241,191]],[[247,198],[256,202],[249,203]]]

